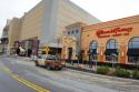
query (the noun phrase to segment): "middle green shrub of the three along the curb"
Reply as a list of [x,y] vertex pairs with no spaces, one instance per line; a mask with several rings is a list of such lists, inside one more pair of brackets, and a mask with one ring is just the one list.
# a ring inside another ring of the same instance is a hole
[[129,78],[130,76],[130,72],[125,70],[125,69],[118,68],[116,70],[116,75],[121,76],[121,78]]

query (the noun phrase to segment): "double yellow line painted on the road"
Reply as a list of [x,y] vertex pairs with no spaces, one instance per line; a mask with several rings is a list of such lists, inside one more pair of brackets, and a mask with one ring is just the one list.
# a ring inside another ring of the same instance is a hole
[[32,82],[19,76],[18,74],[12,73],[11,70],[7,67],[4,67],[3,70],[9,72],[14,80],[19,81],[20,83],[23,83],[24,85],[27,85],[27,86],[29,86],[38,92],[50,92],[49,90],[46,90],[46,89],[43,89],[43,88],[32,83]]

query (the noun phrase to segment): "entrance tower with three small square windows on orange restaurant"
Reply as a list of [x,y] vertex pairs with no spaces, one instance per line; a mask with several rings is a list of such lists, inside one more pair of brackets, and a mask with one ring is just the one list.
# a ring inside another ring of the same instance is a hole
[[64,37],[62,38],[62,59],[78,60],[81,50],[82,22],[76,22],[66,27]]

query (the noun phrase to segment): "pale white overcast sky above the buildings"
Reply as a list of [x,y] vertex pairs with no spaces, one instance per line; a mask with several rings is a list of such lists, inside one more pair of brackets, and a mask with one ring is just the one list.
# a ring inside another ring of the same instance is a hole
[[[41,0],[1,0],[0,31],[7,19],[20,18]],[[71,0],[101,21],[139,14],[139,0]],[[0,32],[1,34],[1,32]]]

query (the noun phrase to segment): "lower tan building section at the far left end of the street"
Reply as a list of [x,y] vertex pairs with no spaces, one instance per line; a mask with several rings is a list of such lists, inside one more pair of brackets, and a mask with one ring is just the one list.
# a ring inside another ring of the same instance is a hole
[[21,31],[21,19],[13,18],[12,20],[7,20],[6,27],[2,31],[1,38],[1,50],[2,53],[10,53],[14,49],[14,41],[20,38]]

